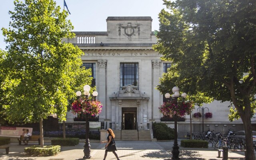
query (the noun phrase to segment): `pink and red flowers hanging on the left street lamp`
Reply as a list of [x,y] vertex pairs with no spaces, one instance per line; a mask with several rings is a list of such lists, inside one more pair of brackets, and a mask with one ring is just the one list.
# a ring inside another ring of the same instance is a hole
[[74,100],[71,106],[71,112],[73,114],[91,114],[92,116],[100,114],[102,110],[102,104],[100,101],[90,101],[86,100],[86,98],[79,98],[78,100]]

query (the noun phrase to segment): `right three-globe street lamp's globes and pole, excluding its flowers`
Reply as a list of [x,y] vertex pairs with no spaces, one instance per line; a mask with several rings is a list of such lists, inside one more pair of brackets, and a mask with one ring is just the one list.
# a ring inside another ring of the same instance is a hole
[[[167,98],[171,102],[174,102],[176,104],[176,106],[178,106],[178,97],[182,97],[183,100],[186,98],[187,94],[186,93],[182,93],[180,96],[180,92],[179,92],[179,88],[178,87],[174,87],[172,88],[172,97],[170,97],[169,93],[166,93],[164,96],[165,98]],[[177,112],[174,114],[174,144],[172,147],[172,160],[179,160],[179,146],[178,146],[178,134],[177,134]]]

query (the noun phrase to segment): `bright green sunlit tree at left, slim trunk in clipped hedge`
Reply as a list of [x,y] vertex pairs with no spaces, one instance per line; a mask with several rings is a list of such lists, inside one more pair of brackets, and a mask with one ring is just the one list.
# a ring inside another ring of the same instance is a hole
[[43,146],[42,120],[53,113],[65,120],[78,81],[90,84],[87,76],[91,73],[81,68],[82,51],[62,41],[74,37],[73,26],[56,2],[15,0],[14,5],[14,11],[9,11],[10,28],[2,28],[8,46],[1,70],[8,75],[5,81],[11,89],[4,93],[10,100],[3,105],[2,114],[13,123],[40,122]]

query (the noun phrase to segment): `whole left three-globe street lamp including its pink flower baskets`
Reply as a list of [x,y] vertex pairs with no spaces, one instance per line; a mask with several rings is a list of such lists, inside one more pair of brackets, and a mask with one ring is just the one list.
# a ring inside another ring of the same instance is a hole
[[[76,100],[72,104],[72,110],[76,113],[82,113],[84,112],[86,114],[85,120],[86,120],[86,133],[85,133],[85,142],[84,142],[84,157],[83,159],[90,159],[90,140],[89,140],[89,114],[99,114],[101,112],[102,104],[96,100],[96,96],[98,96],[98,92],[94,91],[92,93],[92,96],[90,96],[90,89],[91,87],[89,85],[84,86],[84,95],[80,91],[76,92],[76,96],[78,96],[78,100]],[[92,104],[93,102],[96,102]],[[92,110],[92,106],[95,106],[95,111],[89,111]]]

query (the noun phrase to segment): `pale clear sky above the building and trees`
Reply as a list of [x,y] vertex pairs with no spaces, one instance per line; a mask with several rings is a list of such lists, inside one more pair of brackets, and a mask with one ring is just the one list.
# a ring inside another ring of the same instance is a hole
[[[8,28],[9,10],[14,10],[14,0],[0,0],[0,28]],[[55,0],[63,8],[64,0]],[[105,31],[108,16],[151,16],[152,31],[159,30],[158,14],[166,8],[162,0],[65,0],[70,11],[68,19],[74,26],[73,31]],[[66,8],[65,8],[66,9]],[[0,31],[0,48],[6,43]]]

